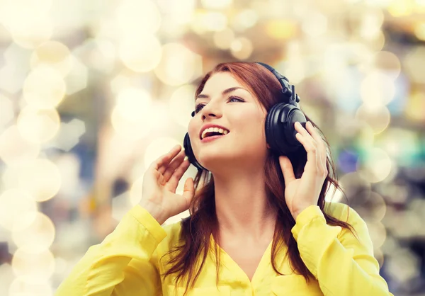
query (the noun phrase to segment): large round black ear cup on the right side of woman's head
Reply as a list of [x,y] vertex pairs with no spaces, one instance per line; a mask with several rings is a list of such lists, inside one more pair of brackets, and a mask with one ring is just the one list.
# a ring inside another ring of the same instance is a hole
[[299,108],[291,104],[277,103],[268,111],[266,141],[274,152],[287,155],[302,146],[295,137],[294,124],[297,121],[305,126],[307,119]]

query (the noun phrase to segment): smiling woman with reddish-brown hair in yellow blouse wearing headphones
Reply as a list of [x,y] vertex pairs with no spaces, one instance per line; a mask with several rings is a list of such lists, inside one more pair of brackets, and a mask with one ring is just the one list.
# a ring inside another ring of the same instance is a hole
[[[276,151],[278,123],[267,115],[299,98],[273,71],[234,62],[204,77],[189,153],[178,145],[149,166],[140,205],[91,246],[57,295],[392,295],[365,222],[324,202],[338,184],[319,130],[305,117],[290,126],[288,154]],[[178,195],[185,154],[198,173]],[[188,208],[190,217],[161,226]]]

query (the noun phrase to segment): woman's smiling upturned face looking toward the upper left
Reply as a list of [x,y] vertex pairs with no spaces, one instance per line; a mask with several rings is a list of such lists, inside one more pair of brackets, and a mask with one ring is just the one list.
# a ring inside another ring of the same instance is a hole
[[[238,166],[258,169],[263,165],[267,153],[266,110],[232,74],[212,74],[196,98],[195,108],[188,134],[193,153],[202,166],[214,172]],[[220,125],[229,132],[204,142],[200,133],[208,124]]]

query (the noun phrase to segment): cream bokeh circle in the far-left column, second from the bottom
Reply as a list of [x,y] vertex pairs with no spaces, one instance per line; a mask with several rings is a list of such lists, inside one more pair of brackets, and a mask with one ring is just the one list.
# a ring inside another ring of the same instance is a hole
[[13,254],[12,268],[13,273],[25,283],[46,283],[55,272],[55,258],[49,250],[33,254],[18,249]]

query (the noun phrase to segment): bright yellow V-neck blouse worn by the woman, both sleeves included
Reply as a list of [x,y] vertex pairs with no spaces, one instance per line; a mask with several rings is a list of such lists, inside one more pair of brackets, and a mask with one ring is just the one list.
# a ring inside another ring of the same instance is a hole
[[[347,205],[327,203],[325,210],[347,221]],[[290,270],[284,248],[278,251],[276,263],[278,270],[286,275],[273,271],[270,244],[250,281],[242,268],[219,247],[222,252],[219,290],[211,251],[196,288],[188,296],[392,295],[379,274],[365,222],[353,209],[349,210],[348,222],[356,229],[358,239],[346,229],[327,225],[317,206],[307,207],[297,216],[292,233],[302,261],[314,275],[308,285],[302,275]],[[174,288],[174,278],[167,277],[164,282],[159,278],[159,272],[163,273],[165,267],[159,258],[177,243],[180,229],[180,222],[161,226],[147,210],[136,205],[101,244],[89,248],[55,295],[183,295],[183,287]],[[211,239],[215,244],[212,236]]]

